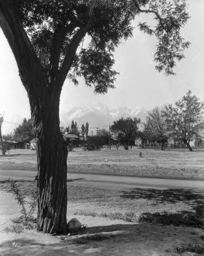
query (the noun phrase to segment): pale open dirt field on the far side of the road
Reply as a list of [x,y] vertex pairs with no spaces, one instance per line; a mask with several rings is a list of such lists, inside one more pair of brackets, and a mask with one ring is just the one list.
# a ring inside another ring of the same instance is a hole
[[[142,157],[139,157],[139,153]],[[36,151],[11,150],[0,156],[0,169],[37,169]],[[204,179],[204,150],[150,150],[119,147],[100,151],[74,148],[67,158],[67,172],[81,174],[131,175],[140,177]]]

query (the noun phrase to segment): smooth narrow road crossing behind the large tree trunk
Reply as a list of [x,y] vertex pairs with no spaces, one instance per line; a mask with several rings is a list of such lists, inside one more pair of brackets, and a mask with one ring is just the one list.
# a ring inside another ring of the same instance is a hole
[[[0,181],[6,179],[34,180],[35,172],[31,170],[0,170]],[[103,187],[118,188],[184,188],[204,191],[204,181],[196,180],[176,180],[176,179],[156,179],[126,176],[107,176],[90,174],[67,174],[67,179],[81,184],[98,185]]]

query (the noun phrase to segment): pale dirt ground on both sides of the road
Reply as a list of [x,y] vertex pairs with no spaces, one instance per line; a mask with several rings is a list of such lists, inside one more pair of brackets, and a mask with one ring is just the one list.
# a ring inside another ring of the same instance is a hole
[[[142,152],[142,158],[139,157]],[[203,179],[204,152],[133,150],[102,150],[69,152],[70,173],[135,175]],[[0,156],[0,169],[36,171],[35,151],[15,150]],[[34,182],[22,182],[23,189],[32,190]],[[188,245],[204,246],[201,228],[154,223],[127,222],[84,216],[80,212],[170,212],[193,211],[193,203],[203,191],[103,188],[71,182],[68,191],[67,220],[77,218],[87,225],[74,236],[50,236],[35,230],[8,232],[11,219],[20,216],[20,208],[9,184],[0,184],[0,255],[203,255],[176,251]],[[68,187],[67,185],[67,187]],[[197,193],[197,194],[196,194]],[[76,215],[78,213],[78,215]],[[36,212],[35,212],[36,216]]]

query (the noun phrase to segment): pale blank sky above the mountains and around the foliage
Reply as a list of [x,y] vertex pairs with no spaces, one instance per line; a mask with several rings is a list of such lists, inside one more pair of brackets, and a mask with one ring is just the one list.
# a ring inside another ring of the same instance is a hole
[[[149,110],[156,105],[174,103],[189,89],[204,101],[204,0],[187,2],[191,19],[182,35],[191,42],[191,47],[185,52],[186,58],[177,63],[175,76],[166,77],[155,70],[153,56],[156,40],[135,28],[134,36],[115,52],[115,69],[120,72],[116,89],[109,90],[106,95],[96,95],[82,80],[78,87],[66,80],[61,94],[60,112],[97,102],[110,109],[130,106]],[[142,14],[135,20],[135,25],[146,20],[151,22],[151,15]],[[6,121],[15,122],[18,116],[29,117],[30,107],[15,59],[2,31],[0,56],[0,113],[5,112]],[[8,131],[8,125],[3,127],[3,133]]]

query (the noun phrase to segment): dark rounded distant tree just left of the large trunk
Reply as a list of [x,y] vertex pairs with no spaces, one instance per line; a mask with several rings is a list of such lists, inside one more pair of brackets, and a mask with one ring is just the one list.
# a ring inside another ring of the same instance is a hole
[[29,143],[34,138],[31,119],[24,118],[22,124],[13,131],[13,139],[17,142]]

